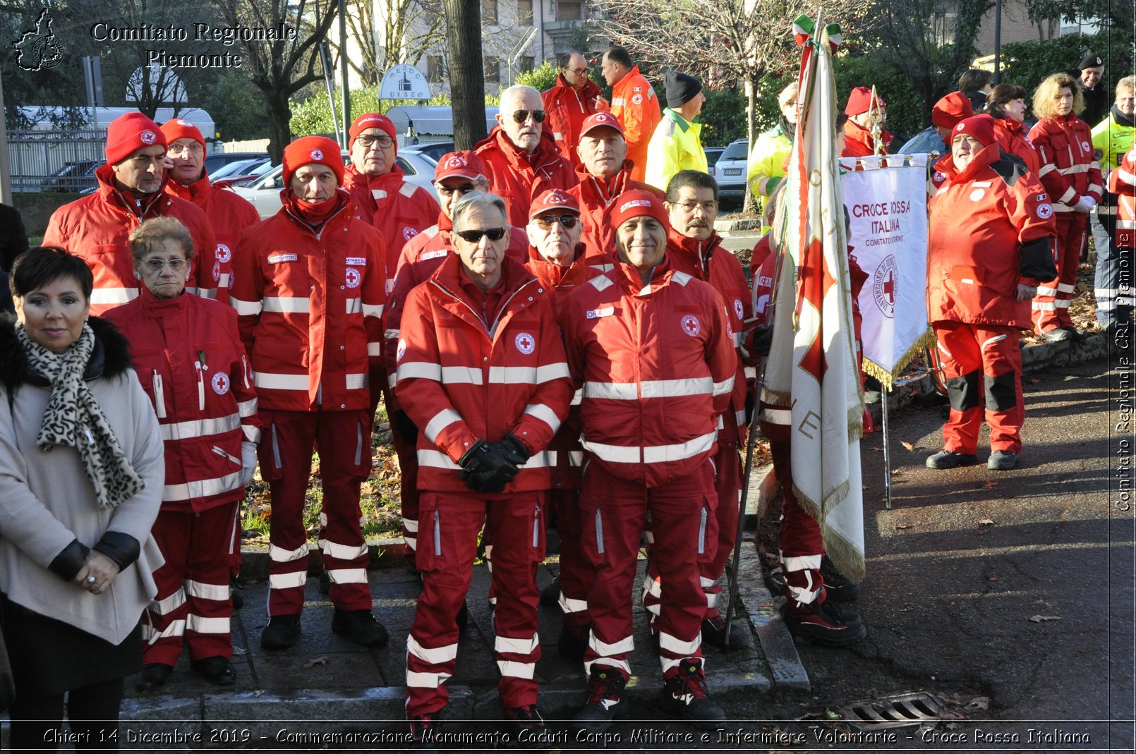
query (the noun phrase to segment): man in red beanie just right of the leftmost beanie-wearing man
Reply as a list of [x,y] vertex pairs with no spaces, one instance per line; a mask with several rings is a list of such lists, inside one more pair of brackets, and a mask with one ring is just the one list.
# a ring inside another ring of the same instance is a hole
[[[166,193],[193,202],[206,213],[217,252],[211,269],[198,274],[202,295],[228,301],[228,274],[233,267],[233,250],[245,228],[260,221],[260,213],[244,196],[214,188],[206,174],[206,140],[189,120],[174,118],[161,124],[169,148],[166,157],[174,167],[167,170]],[[212,294],[216,290],[216,295]]]

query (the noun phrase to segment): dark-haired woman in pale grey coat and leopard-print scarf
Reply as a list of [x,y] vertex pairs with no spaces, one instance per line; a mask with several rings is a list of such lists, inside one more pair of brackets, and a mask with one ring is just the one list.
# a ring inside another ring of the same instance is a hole
[[90,317],[91,269],[22,254],[0,318],[0,621],[16,682],[9,746],[117,749],[123,679],[161,564],[158,421],[126,340]]

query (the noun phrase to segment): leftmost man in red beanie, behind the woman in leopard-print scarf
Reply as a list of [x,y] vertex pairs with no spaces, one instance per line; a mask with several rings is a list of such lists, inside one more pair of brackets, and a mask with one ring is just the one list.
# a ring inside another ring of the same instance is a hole
[[67,249],[91,267],[92,315],[139,295],[142,284],[134,277],[128,238],[144,220],[159,216],[181,220],[193,236],[193,248],[201,250],[185,290],[215,298],[211,280],[217,243],[200,208],[162,192],[169,179],[166,144],[158,124],[141,112],[115,118],[107,126],[107,164],[94,171],[99,188],[64,204],[48,220],[43,245]]

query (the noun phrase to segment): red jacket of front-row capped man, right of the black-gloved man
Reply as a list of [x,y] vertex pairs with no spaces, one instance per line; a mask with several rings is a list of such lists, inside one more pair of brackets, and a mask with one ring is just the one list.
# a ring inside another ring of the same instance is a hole
[[644,286],[619,262],[569,296],[560,329],[595,462],[658,487],[713,454],[737,357],[710,285],[663,261]]

